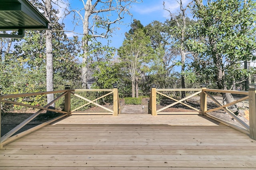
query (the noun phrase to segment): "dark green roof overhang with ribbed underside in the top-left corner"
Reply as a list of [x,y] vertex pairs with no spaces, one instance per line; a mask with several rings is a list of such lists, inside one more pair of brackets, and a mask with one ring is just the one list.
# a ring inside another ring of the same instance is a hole
[[50,30],[49,24],[28,0],[0,0],[0,31]]

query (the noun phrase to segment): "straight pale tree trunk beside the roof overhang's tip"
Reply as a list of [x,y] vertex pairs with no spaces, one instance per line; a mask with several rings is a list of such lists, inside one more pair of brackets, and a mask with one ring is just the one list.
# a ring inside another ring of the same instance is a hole
[[[45,17],[50,21],[52,4],[51,0],[45,0]],[[52,55],[52,30],[46,30],[46,90],[53,91],[53,55]],[[47,103],[54,100],[54,94],[47,95]],[[51,105],[55,107],[55,103]]]

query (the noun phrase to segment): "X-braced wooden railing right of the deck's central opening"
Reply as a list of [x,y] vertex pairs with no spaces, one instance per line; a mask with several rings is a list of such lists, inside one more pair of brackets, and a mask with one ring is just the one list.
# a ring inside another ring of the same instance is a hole
[[[168,95],[161,93],[161,91],[166,91],[166,92],[168,92],[168,91],[190,91],[190,92],[192,92],[192,94],[188,95],[187,97],[185,97],[183,99],[177,100],[173,97],[170,97]],[[213,95],[211,95],[210,92],[212,92],[212,93],[231,93],[231,94],[237,94],[237,95],[244,95],[244,97],[237,99],[237,100],[235,100],[231,103],[228,103],[226,105],[223,105]],[[157,94],[160,94],[164,97],[167,97],[168,99],[173,100],[174,103],[157,110],[156,109],[156,106],[157,106],[156,105],[156,95]],[[200,95],[200,110],[188,105],[187,103],[183,103],[183,101],[185,101],[191,97],[194,97],[196,95]],[[216,107],[214,109],[208,109],[207,108],[208,100],[210,100],[210,102],[214,102],[216,105],[218,105],[218,107]],[[244,121],[242,121],[238,116],[236,116],[234,113],[232,113],[232,111],[230,111],[228,109],[228,107],[230,107],[231,105],[241,103],[244,101],[248,101],[248,103],[249,103],[250,125],[247,125],[246,123],[244,123]],[[193,109],[196,112],[182,112],[182,113],[162,112],[165,109],[168,109],[176,104],[185,105],[186,107]],[[210,112],[217,111],[220,109],[222,109],[226,113],[228,113],[233,119],[235,119],[238,123],[240,123],[240,125],[242,125],[242,127],[244,127],[244,128],[238,127],[236,125],[228,123],[222,119],[219,119],[219,118],[214,117],[209,114]],[[204,115],[204,116],[210,117],[212,119],[215,119],[216,121],[224,123],[224,124],[226,124],[232,128],[235,128],[243,133],[246,133],[250,136],[250,138],[256,140],[256,91],[255,91],[255,89],[250,89],[249,91],[232,91],[232,90],[218,90],[218,89],[206,89],[206,88],[202,88],[202,89],[156,89],[156,88],[152,88],[151,94],[150,94],[150,101],[148,103],[148,113],[152,114],[153,116],[160,115],[160,114],[196,114],[196,113],[198,113],[200,115]]]

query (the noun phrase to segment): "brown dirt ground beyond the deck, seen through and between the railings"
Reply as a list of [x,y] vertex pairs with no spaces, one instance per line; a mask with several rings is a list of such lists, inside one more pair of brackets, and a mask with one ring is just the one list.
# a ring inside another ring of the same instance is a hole
[[[142,104],[141,105],[125,105],[124,100],[120,100],[120,109],[121,113],[120,114],[148,114],[148,98],[142,99]],[[169,102],[169,103],[168,103]],[[200,109],[200,101],[199,99],[190,99],[187,100],[188,105],[191,105],[192,107],[195,107],[197,109]],[[157,105],[157,109],[160,109],[162,107],[165,107],[166,105],[169,105],[170,101],[162,101],[160,105]],[[104,107],[107,107],[109,109],[113,108],[112,104],[106,104]],[[216,105],[214,103],[209,102],[208,103],[209,108],[215,108]],[[209,109],[208,108],[208,109]],[[174,105],[171,108],[165,109],[164,112],[191,112],[194,111],[184,105],[178,104]],[[33,113],[35,113],[36,110],[30,110],[26,111],[24,113],[4,113],[2,112],[1,114],[1,136],[12,130],[14,127],[19,125],[22,121],[26,120],[28,117],[30,117]],[[93,113],[93,112],[106,112],[104,109],[100,107],[92,107],[88,112]],[[247,108],[242,109],[242,114],[238,116],[242,121],[247,123],[249,125],[248,121],[248,110]],[[210,113],[211,115],[218,117],[224,121],[227,121],[228,123],[232,123],[234,125],[237,125],[239,127],[242,127],[236,120],[234,120],[230,115],[225,113],[224,111],[215,111]],[[55,117],[58,116],[59,114],[54,115]],[[32,120],[28,125],[20,129],[17,133],[22,132],[26,129],[32,128],[36,125],[39,125],[41,123],[44,123],[53,117],[47,116],[46,113],[40,114],[38,117],[36,117],[34,120]]]

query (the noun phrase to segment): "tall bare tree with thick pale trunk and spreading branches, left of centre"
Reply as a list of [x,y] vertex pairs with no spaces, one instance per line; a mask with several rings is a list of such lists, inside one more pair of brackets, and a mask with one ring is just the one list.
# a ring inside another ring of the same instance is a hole
[[122,24],[124,16],[130,15],[129,9],[137,0],[81,0],[80,10],[71,10],[76,25],[82,23],[83,36],[82,49],[82,87],[86,87],[88,79],[88,44],[95,38],[108,38],[113,33],[113,24]]

